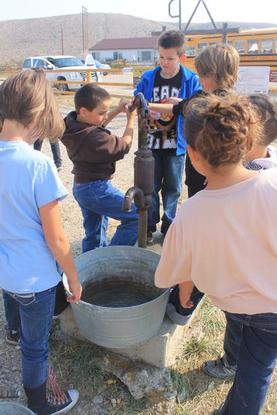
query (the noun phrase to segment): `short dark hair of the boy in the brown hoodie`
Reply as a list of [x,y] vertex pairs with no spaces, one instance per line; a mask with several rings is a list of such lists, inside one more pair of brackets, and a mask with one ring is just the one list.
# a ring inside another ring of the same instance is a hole
[[78,114],[80,113],[81,108],[92,111],[98,107],[101,102],[110,99],[111,95],[109,95],[108,91],[104,88],[100,88],[98,85],[86,84],[75,93],[75,110]]

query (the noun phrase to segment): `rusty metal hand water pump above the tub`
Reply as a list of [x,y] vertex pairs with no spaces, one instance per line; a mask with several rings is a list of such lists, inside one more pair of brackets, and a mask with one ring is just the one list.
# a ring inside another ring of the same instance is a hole
[[134,186],[130,187],[125,194],[123,210],[130,212],[132,210],[132,201],[134,200],[134,205],[138,208],[137,212],[139,213],[138,245],[141,248],[146,248],[148,209],[154,189],[154,157],[147,144],[150,109],[141,92],[137,93],[129,111],[134,111],[134,109],[137,110],[139,119],[139,149],[135,152],[136,157],[134,158]]

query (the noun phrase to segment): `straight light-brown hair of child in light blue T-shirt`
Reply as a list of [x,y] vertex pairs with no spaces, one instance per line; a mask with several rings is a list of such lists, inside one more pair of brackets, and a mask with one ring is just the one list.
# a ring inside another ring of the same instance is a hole
[[[0,86],[0,124],[15,120],[24,127],[37,116],[34,134],[54,141],[64,132],[64,121],[51,85],[41,69],[14,73]],[[1,128],[0,125],[0,128]]]

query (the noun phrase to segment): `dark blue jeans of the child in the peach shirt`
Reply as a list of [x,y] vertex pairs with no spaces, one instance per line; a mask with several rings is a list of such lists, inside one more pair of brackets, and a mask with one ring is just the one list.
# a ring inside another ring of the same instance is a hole
[[226,313],[242,324],[235,380],[219,415],[258,415],[277,358],[277,314]]

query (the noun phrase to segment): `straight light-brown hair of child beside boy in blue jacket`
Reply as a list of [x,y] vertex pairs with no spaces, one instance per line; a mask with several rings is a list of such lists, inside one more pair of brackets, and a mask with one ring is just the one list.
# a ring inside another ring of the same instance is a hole
[[218,88],[233,88],[238,79],[240,55],[226,44],[213,44],[204,48],[195,58],[199,76],[212,76]]

